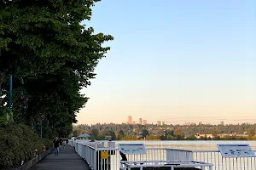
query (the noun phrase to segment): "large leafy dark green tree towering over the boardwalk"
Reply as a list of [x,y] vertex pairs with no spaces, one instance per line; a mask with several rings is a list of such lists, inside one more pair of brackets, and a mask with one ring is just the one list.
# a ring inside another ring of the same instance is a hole
[[[3,0],[0,3],[0,89],[14,77],[15,121],[38,133],[67,136],[87,101],[95,67],[110,35],[81,25],[98,0]],[[2,105],[3,107],[3,105]]]

